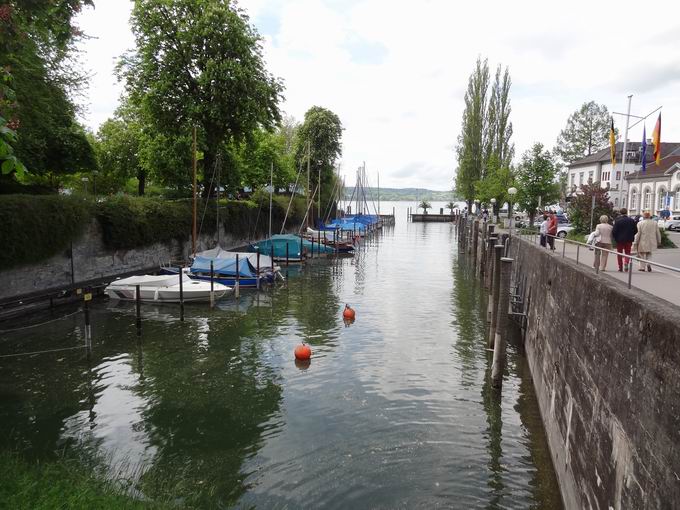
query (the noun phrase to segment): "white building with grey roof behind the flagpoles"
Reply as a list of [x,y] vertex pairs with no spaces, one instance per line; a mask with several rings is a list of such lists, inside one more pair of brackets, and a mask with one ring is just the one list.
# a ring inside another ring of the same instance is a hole
[[[599,182],[600,186],[609,190],[609,199],[615,208],[628,207],[630,203],[629,184],[632,182],[628,180],[628,176],[632,176],[642,168],[641,145],[640,142],[628,142],[626,145],[626,168],[623,173],[621,166],[623,142],[616,144],[616,166],[613,170],[609,147],[574,161],[567,167],[567,189],[569,193],[578,193],[578,189],[589,182]],[[652,161],[653,152],[654,145],[650,140],[647,144],[646,158],[648,169],[655,166]],[[672,157],[674,154],[680,155],[680,143],[661,143],[662,157],[667,159],[666,156]],[[629,207],[629,209],[632,208]]]

